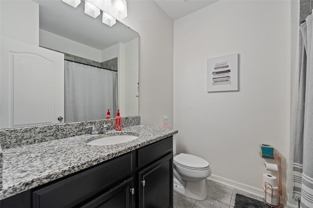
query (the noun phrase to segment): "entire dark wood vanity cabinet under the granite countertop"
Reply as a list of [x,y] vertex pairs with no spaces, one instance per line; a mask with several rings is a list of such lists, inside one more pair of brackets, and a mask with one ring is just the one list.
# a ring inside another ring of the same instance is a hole
[[0,208],[72,207],[173,207],[173,137],[0,201]]

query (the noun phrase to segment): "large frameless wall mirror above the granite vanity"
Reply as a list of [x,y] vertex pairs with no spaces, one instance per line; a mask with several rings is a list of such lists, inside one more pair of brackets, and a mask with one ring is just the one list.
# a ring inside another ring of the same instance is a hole
[[[82,0],[73,8],[62,0],[0,1],[0,128],[105,119],[107,109],[114,118],[117,108],[121,116],[139,115],[139,35],[119,21],[112,27],[102,23],[102,14],[90,17],[84,13],[84,4]],[[24,54],[23,48],[33,45],[35,52]],[[61,54],[63,60],[54,62],[41,52],[56,59]],[[33,66],[30,60],[46,67]],[[40,87],[51,77],[61,81]],[[57,95],[60,101],[46,94]],[[53,108],[62,102],[59,108],[63,109]],[[45,115],[50,110],[54,112]]]

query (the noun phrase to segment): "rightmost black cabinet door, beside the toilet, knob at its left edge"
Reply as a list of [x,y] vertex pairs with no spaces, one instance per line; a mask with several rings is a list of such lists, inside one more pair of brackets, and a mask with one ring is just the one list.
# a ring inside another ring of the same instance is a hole
[[173,153],[138,173],[139,207],[173,207]]

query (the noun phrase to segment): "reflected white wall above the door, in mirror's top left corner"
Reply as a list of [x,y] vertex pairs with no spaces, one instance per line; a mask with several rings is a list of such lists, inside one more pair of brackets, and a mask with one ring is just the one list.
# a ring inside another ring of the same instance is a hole
[[39,5],[30,0],[0,0],[0,4],[1,36],[38,45]]

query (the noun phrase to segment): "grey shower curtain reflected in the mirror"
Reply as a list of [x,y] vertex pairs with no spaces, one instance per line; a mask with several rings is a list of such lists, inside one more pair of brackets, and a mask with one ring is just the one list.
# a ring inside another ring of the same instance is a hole
[[117,104],[117,72],[65,61],[65,122],[105,119]]

